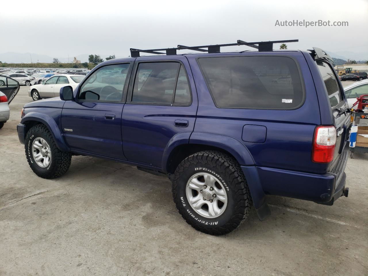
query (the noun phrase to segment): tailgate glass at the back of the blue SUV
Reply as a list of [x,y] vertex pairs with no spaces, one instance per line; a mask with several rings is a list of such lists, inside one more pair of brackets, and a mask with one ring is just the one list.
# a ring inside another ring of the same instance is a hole
[[321,73],[323,82],[325,82],[328,98],[330,100],[331,107],[337,106],[339,102],[343,100],[342,92],[340,91],[339,84],[335,78],[335,74],[328,63],[316,60],[317,67]]

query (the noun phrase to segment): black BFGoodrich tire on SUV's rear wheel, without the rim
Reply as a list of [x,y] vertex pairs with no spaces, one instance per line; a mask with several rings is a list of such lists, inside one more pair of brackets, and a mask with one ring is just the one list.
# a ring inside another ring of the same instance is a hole
[[[206,218],[191,208],[187,182],[196,173],[212,173],[224,181],[228,202],[222,215]],[[232,157],[218,151],[202,151],[185,158],[176,168],[172,181],[173,199],[181,216],[195,229],[211,235],[230,233],[247,218],[252,198],[243,171]],[[228,188],[228,190],[227,190]]]

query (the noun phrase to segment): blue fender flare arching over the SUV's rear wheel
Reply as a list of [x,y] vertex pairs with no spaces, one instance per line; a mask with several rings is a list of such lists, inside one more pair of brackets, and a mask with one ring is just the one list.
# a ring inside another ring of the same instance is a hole
[[235,138],[215,133],[193,132],[189,143],[221,148],[233,155],[240,165],[254,165],[254,159],[248,149]]

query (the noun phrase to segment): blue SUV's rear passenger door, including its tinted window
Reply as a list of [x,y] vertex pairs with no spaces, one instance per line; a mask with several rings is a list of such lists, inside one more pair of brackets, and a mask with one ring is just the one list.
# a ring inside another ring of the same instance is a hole
[[123,110],[125,157],[135,163],[162,167],[170,139],[194,128],[197,94],[186,57],[137,58]]

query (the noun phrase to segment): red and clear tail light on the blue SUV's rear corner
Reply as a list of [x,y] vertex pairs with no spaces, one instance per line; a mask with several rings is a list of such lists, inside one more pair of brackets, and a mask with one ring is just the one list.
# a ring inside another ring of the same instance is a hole
[[335,153],[336,128],[333,125],[319,125],[314,131],[312,161],[330,163]]

